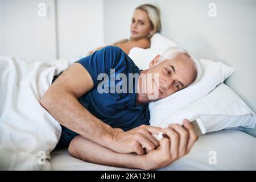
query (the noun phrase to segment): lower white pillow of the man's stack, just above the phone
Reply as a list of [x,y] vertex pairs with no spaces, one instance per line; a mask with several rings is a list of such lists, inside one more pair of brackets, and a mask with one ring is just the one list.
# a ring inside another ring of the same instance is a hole
[[[151,112],[158,113],[158,110]],[[194,117],[201,118],[207,132],[241,126],[252,129],[256,125],[255,113],[225,84],[218,85],[204,98],[174,113],[169,114],[166,111],[164,117],[161,116],[159,119],[155,117],[150,123],[154,126],[167,127],[170,123],[182,123],[184,118]]]

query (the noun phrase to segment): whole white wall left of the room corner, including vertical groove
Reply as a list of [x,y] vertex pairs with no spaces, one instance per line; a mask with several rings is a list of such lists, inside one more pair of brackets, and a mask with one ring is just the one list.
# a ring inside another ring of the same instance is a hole
[[103,0],[0,0],[0,21],[1,56],[72,63],[104,43]]

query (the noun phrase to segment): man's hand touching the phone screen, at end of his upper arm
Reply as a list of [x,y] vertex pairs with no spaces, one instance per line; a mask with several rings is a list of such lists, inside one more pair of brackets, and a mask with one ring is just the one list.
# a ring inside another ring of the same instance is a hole
[[[159,141],[152,136],[162,132],[160,127],[142,125],[126,132],[117,132],[113,137],[112,150],[129,154],[132,152],[143,155],[159,146]],[[144,148],[146,148],[146,151]]]

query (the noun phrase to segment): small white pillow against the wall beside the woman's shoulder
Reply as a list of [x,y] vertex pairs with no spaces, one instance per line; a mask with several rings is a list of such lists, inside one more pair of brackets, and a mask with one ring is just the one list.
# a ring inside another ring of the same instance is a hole
[[167,49],[168,47],[177,46],[171,39],[168,39],[159,33],[154,34],[150,39],[150,42],[150,48],[154,49]]

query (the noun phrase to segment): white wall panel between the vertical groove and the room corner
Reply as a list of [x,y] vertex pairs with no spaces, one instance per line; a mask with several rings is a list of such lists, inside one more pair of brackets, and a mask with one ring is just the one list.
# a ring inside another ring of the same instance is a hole
[[104,44],[103,0],[58,0],[59,57],[78,60]]

